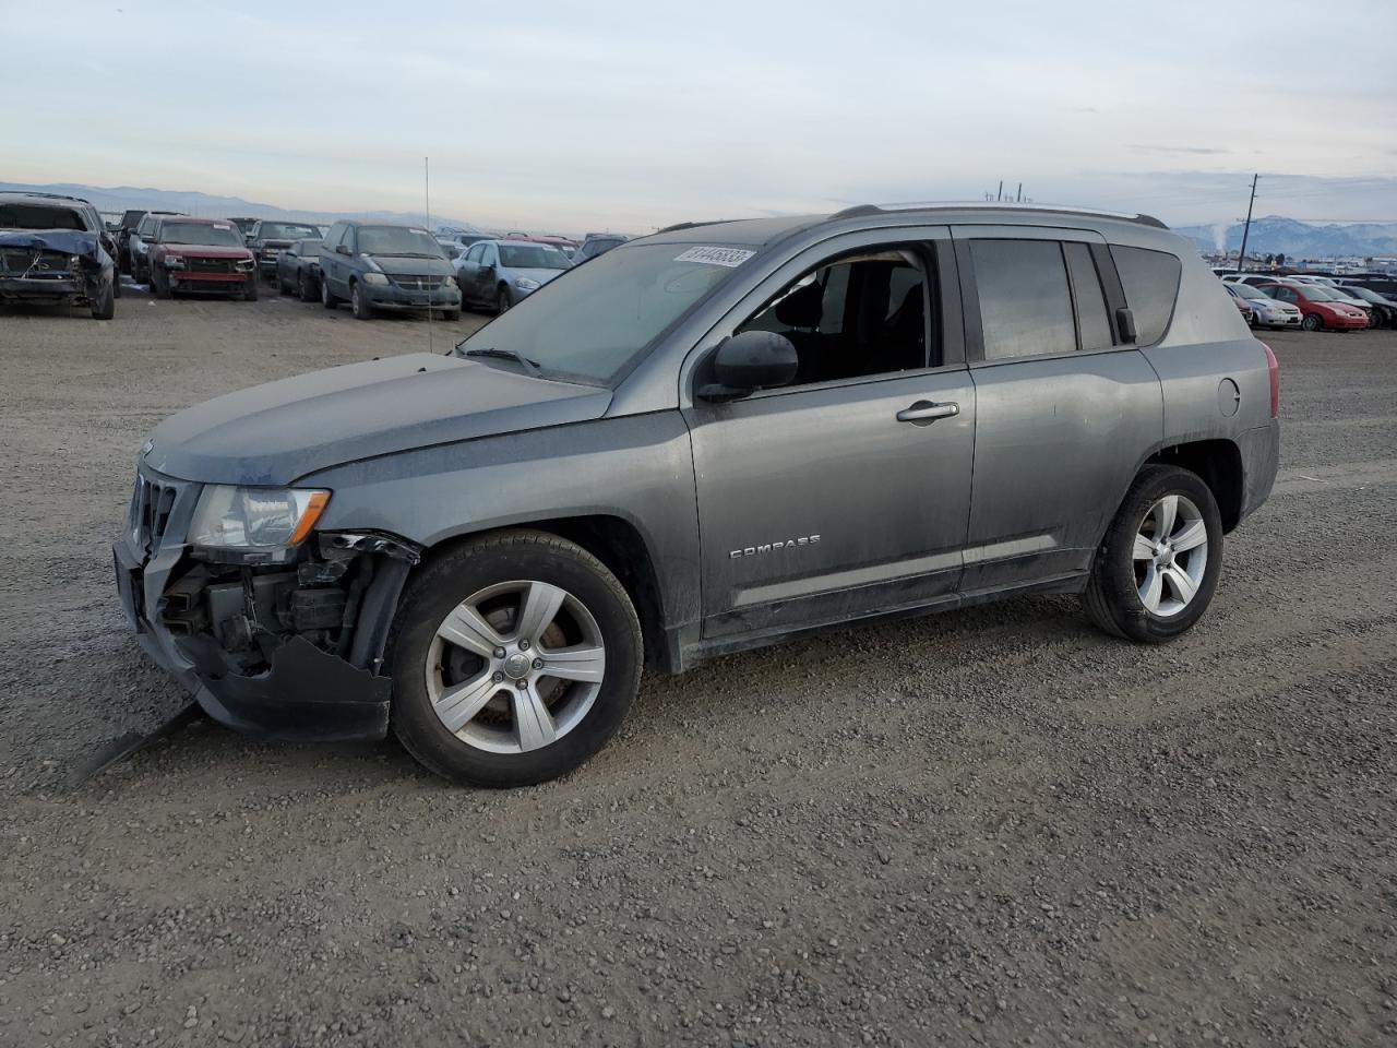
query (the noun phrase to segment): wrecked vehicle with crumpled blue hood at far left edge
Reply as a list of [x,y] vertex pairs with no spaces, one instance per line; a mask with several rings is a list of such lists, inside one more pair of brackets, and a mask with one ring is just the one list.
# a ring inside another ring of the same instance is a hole
[[116,314],[116,260],[85,201],[0,193],[0,305],[88,306]]

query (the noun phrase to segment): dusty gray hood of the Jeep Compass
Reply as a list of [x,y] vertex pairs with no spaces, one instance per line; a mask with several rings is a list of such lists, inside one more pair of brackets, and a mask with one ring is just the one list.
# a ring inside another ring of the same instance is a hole
[[601,418],[610,390],[436,354],[352,363],[182,411],[145,463],[205,483],[285,485],[332,465]]

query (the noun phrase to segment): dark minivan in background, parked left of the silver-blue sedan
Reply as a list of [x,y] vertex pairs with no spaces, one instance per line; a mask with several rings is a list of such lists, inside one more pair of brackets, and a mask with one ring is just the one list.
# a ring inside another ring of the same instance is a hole
[[335,222],[320,242],[320,302],[348,302],[359,320],[379,310],[461,316],[461,292],[446,252],[426,229]]

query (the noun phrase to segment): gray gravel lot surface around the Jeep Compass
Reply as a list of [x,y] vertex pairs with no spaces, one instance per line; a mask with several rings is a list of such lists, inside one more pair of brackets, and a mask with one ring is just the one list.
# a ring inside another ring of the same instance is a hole
[[427,326],[0,317],[0,1044],[1393,1044],[1397,337],[1268,341],[1281,478],[1168,647],[1023,599],[647,679],[534,789],[208,721],[73,785],[182,701],[110,578],[145,432]]

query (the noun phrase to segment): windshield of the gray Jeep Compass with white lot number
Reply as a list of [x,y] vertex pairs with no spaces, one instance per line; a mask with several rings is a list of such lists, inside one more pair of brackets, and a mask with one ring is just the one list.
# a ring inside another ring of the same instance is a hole
[[[733,249],[728,260],[750,254]],[[722,257],[722,249],[655,243],[608,252],[545,284],[471,335],[458,352],[514,351],[545,372],[610,384],[665,328],[732,275],[729,265],[704,257]]]

